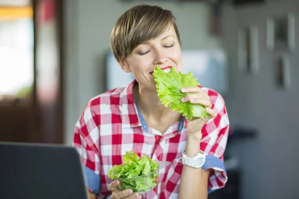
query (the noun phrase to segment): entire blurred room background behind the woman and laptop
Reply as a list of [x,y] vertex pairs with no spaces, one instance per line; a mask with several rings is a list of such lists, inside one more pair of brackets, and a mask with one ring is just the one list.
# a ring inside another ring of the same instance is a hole
[[209,199],[299,199],[299,0],[0,0],[0,141],[71,145],[87,101],[133,80],[110,34],[141,2],[174,13],[184,72],[226,102]]

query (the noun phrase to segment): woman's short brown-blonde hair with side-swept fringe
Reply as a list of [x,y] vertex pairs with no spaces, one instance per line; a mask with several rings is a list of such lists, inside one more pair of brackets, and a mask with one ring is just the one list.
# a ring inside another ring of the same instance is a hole
[[155,39],[171,26],[179,44],[179,32],[172,12],[159,6],[136,5],[123,13],[111,33],[111,48],[119,61],[129,56],[140,44]]

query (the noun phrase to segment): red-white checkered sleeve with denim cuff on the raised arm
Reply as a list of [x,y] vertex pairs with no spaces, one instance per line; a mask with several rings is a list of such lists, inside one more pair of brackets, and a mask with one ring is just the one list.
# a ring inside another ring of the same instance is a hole
[[223,188],[227,182],[227,174],[223,164],[223,155],[226,148],[229,119],[222,96],[210,89],[203,88],[212,102],[212,109],[218,112],[217,116],[209,120],[202,128],[200,148],[205,152],[206,163],[203,170],[212,169],[209,177],[209,193]]

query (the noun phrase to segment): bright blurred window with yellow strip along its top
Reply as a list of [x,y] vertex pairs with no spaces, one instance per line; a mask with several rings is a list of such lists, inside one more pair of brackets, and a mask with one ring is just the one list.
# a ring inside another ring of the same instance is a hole
[[0,100],[32,93],[33,41],[32,7],[0,7]]

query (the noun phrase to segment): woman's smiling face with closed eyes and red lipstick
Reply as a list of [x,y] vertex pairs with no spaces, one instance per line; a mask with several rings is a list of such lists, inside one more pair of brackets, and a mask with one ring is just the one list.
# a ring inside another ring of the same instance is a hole
[[[155,91],[152,72],[158,65],[164,72],[173,67],[182,70],[180,45],[173,27],[161,36],[137,46],[131,55],[120,62],[123,70],[132,73],[140,86]],[[124,67],[125,66],[125,67]]]

